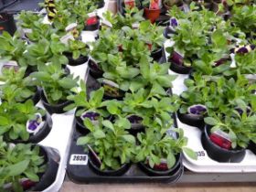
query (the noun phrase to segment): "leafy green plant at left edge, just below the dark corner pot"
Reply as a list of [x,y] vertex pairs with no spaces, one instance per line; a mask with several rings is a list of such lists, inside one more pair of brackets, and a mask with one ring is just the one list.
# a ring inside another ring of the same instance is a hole
[[24,52],[27,48],[26,42],[20,39],[18,33],[12,37],[7,32],[3,32],[0,36],[0,54],[1,60],[15,60],[19,66],[27,66],[27,60],[24,57]]

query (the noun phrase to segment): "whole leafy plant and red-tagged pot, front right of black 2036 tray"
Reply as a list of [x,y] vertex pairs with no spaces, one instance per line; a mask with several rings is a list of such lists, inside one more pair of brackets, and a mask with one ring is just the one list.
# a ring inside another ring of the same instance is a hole
[[181,129],[172,129],[178,133],[178,138],[173,138],[168,133],[155,131],[154,127],[148,127],[145,133],[138,133],[139,145],[136,147],[136,161],[149,176],[174,175],[181,164],[182,150],[188,152],[194,159],[197,157],[186,146],[187,138]]

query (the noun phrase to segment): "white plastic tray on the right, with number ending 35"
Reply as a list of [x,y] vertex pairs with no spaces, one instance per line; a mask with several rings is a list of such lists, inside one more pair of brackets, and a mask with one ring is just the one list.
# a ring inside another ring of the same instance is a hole
[[[167,40],[165,48],[173,45],[173,42]],[[169,54],[165,51],[165,57]],[[186,91],[187,87],[184,85],[184,80],[188,75],[177,74],[169,69],[170,74],[176,74],[177,78],[173,81],[173,93],[179,95],[181,92]],[[181,123],[176,117],[177,126],[184,130],[185,136],[188,138],[187,146],[197,152],[197,161],[191,159],[186,154],[183,164],[187,169],[197,173],[252,173],[256,172],[256,155],[250,150],[246,150],[246,155],[240,163],[219,163],[208,157],[207,152],[201,144],[201,131],[197,127],[189,126]]]

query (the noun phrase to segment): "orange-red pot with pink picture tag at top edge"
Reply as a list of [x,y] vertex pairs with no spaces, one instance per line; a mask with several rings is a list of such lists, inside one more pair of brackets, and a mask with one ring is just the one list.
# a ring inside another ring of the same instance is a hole
[[155,23],[155,20],[160,16],[161,7],[159,6],[159,0],[144,0],[144,16],[149,19],[151,23]]

